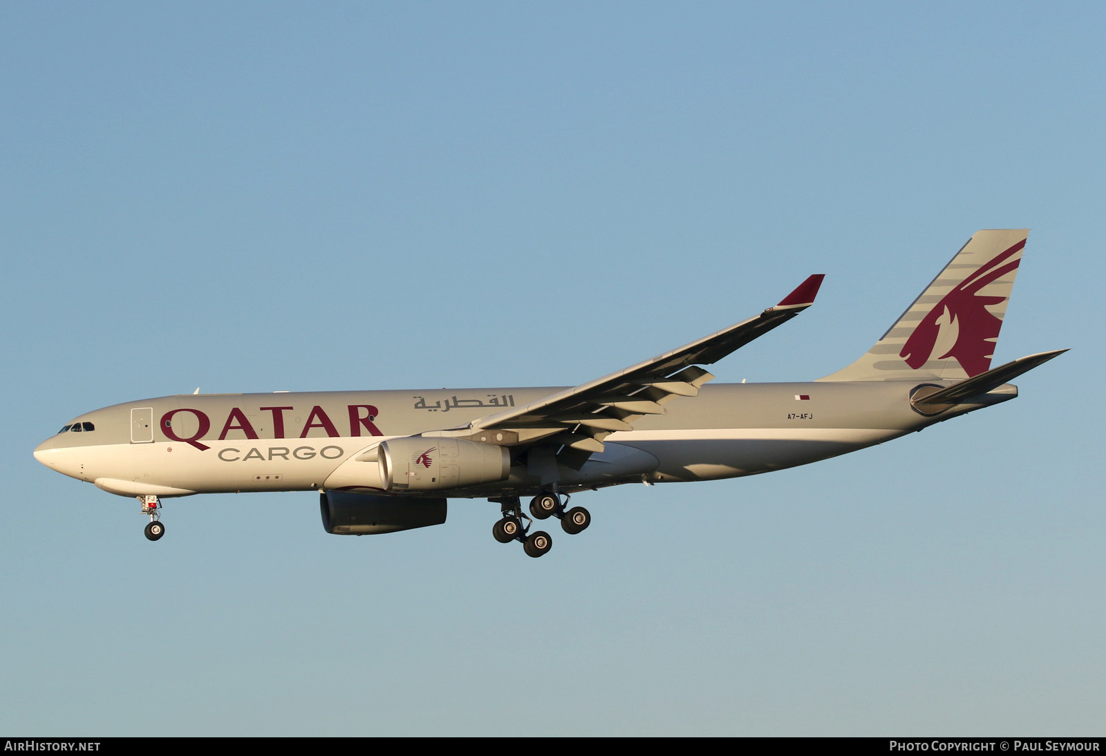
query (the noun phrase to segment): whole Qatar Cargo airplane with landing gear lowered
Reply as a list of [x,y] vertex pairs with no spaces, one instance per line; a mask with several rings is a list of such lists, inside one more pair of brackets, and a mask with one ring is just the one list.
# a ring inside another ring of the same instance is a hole
[[[571,388],[178,395],[74,418],[34,450],[48,468],[137,497],[317,491],[323,527],[393,533],[446,522],[447,500],[499,504],[492,536],[531,557],[570,497],[817,462],[1018,396],[1008,381],[1066,349],[991,367],[1029,231],[982,230],[856,361],[794,384],[707,386],[711,365],[814,303],[812,275],[747,321]],[[530,497],[529,516],[522,500]]]

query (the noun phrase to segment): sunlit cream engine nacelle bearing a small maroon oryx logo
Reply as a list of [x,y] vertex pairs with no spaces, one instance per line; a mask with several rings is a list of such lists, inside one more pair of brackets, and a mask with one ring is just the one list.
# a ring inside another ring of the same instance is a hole
[[507,449],[461,439],[392,439],[379,445],[377,459],[385,491],[447,491],[511,474]]

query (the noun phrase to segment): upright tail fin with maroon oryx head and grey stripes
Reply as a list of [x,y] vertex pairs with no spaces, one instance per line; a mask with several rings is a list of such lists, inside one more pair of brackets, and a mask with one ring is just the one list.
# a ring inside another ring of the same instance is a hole
[[964,380],[985,372],[1027,235],[977,231],[860,359],[818,380]]

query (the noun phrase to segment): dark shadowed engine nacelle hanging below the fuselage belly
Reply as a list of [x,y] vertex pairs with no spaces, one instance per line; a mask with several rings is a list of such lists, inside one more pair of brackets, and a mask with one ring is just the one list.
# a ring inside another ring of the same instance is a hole
[[345,491],[321,491],[323,528],[335,535],[373,535],[446,522],[445,498],[372,496]]

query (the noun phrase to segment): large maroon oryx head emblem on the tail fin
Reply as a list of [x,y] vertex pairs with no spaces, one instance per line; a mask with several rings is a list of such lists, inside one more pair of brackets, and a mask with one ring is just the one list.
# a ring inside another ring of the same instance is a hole
[[1004,302],[1006,296],[987,296],[979,292],[1018,269],[1021,258],[1010,258],[1023,246],[1024,239],[989,260],[946,294],[910,334],[899,357],[915,370],[931,358],[951,357],[969,376],[985,372],[991,367],[994,344],[1002,327],[1002,319],[988,307]]

